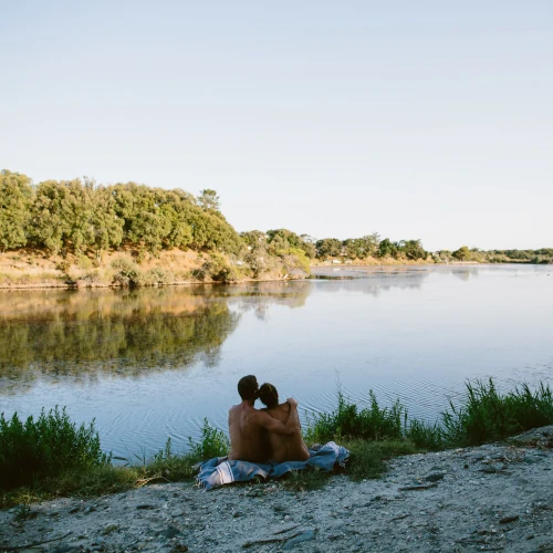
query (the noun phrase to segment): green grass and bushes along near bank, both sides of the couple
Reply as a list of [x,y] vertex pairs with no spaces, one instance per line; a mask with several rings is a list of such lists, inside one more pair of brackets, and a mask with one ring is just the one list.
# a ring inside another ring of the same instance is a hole
[[[501,442],[523,431],[553,424],[553,393],[549,385],[531,389],[523,384],[500,393],[493,380],[467,383],[463,401],[428,424],[411,419],[396,401],[390,407],[371,401],[359,408],[338,393],[332,413],[315,414],[304,428],[307,445],[334,440],[351,450],[345,473],[355,481],[378,478],[385,461],[404,455]],[[112,459],[102,451],[94,421],[77,427],[65,409],[44,410],[22,421],[0,415],[0,508],[25,505],[54,497],[97,497],[140,488],[150,482],[191,481],[195,465],[227,455],[226,435],[207,419],[201,439],[189,438],[188,450],[174,451],[170,438],[150,459]],[[126,461],[115,466],[114,460]],[[294,473],[284,480],[291,490],[324,486],[317,471]]]

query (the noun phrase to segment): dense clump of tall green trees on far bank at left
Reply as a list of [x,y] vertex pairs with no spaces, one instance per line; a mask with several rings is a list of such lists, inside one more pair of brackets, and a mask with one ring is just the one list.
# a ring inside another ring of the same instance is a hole
[[240,237],[213,190],[199,197],[135,182],[96,185],[84,178],[45,180],[0,173],[0,249],[97,255],[122,246],[153,253],[181,248],[238,253]]

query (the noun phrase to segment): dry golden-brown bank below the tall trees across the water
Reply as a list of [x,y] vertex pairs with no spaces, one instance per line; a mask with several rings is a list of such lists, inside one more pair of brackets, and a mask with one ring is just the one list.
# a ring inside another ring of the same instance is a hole
[[253,278],[243,262],[219,253],[164,250],[157,255],[128,250],[104,253],[101,261],[85,254],[48,255],[35,250],[0,254],[0,290],[168,286],[303,279],[309,268],[293,255],[271,257]]

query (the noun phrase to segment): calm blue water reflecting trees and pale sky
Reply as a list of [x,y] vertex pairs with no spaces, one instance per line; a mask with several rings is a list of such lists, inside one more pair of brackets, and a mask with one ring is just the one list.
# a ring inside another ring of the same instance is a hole
[[553,376],[553,267],[326,268],[311,281],[0,293],[0,410],[63,405],[104,449],[226,429],[247,374],[330,410],[338,386],[435,418],[468,378]]

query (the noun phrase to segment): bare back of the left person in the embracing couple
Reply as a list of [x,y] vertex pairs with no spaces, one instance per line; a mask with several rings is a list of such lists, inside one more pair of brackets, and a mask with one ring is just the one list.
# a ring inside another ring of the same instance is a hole
[[267,430],[257,420],[257,409],[240,404],[229,410],[231,450],[229,459],[267,462],[271,456]]

